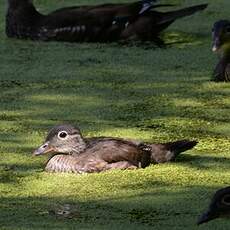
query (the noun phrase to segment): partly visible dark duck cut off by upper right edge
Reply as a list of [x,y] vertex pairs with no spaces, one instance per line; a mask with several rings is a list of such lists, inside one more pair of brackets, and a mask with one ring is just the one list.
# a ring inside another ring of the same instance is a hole
[[220,59],[213,73],[216,82],[230,81],[230,21],[219,20],[212,28],[212,51],[219,54]]

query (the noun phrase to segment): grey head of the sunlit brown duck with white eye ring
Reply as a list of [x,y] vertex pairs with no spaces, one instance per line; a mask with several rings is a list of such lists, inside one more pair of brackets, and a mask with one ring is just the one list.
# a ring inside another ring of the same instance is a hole
[[49,152],[56,153],[80,153],[86,148],[86,143],[78,128],[72,125],[58,125],[53,127],[45,142],[34,151],[34,155],[42,155]]

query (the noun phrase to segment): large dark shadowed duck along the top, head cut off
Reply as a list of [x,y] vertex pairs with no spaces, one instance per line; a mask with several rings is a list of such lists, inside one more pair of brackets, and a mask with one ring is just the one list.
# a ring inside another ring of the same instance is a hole
[[9,38],[65,42],[154,41],[176,19],[202,11],[207,4],[159,12],[153,0],[70,6],[40,13],[32,0],[8,0],[5,32]]

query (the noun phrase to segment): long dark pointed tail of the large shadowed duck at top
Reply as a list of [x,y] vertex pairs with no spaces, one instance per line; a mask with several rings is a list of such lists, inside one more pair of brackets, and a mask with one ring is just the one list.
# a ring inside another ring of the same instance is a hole
[[207,6],[208,4],[200,4],[200,5],[186,7],[180,10],[165,12],[162,14],[162,18],[161,20],[159,20],[159,24],[172,22],[178,18],[192,15],[198,11],[204,10]]

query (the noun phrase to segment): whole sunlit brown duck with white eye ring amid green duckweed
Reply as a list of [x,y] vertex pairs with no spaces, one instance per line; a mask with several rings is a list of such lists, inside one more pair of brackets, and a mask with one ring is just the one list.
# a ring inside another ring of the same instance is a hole
[[79,128],[70,125],[54,126],[44,143],[33,154],[51,153],[47,172],[92,173],[110,169],[145,168],[151,163],[175,160],[182,151],[191,149],[196,141],[177,141],[166,144],[146,144],[117,137],[82,136]]

